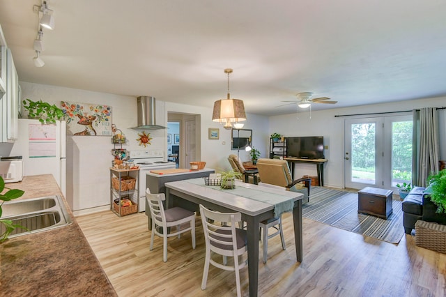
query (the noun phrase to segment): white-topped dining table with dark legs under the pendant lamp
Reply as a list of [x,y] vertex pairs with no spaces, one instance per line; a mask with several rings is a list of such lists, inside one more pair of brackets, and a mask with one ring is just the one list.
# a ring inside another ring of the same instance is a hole
[[[259,287],[259,222],[278,215],[275,205],[265,202],[268,197],[272,199],[282,197],[284,200],[292,200],[296,259],[298,262],[302,262],[303,195],[301,193],[282,191],[277,190],[277,188],[253,185],[241,181],[236,181],[236,188],[241,187],[238,191],[220,190],[217,187],[204,185],[202,178],[174,181],[165,183],[165,186],[167,208],[181,206],[190,211],[198,211],[198,205],[202,204],[213,211],[236,211],[242,214],[242,220],[247,222],[249,296],[257,296]],[[240,191],[243,192],[243,196],[236,194]],[[256,200],[256,196],[261,197],[262,201]]]

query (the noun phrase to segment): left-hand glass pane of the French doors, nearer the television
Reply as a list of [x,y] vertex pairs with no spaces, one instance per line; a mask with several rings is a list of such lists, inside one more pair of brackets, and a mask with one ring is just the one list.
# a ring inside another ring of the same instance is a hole
[[375,123],[351,125],[351,181],[374,184]]

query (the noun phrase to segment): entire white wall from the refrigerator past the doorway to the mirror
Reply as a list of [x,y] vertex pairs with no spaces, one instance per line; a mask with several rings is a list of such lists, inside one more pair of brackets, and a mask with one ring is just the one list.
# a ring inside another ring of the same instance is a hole
[[[137,125],[136,97],[29,82],[20,82],[20,85],[22,87],[21,100],[25,98],[31,100],[42,99],[46,102],[54,103],[56,106],[61,106],[61,101],[97,103],[112,106],[112,123],[118,129],[121,129],[128,139],[128,142],[123,144],[123,148],[129,151],[144,149],[143,146],[139,146],[136,140],[141,130],[131,129]],[[196,107],[157,100],[156,108],[157,124],[164,126],[167,126],[167,112],[199,114],[199,118],[201,118],[199,121],[201,130],[200,141],[197,143],[201,144],[201,161],[206,161],[206,167],[208,168],[230,169],[227,157],[233,153],[230,146],[231,130],[224,130],[222,125],[212,121],[212,107]],[[220,128],[220,139],[208,139],[208,128]],[[247,114],[245,128],[253,130],[252,140],[254,146],[260,149],[262,157],[267,157],[269,137],[268,117]],[[167,154],[166,138],[168,130],[146,130],[146,132],[150,132],[151,137],[153,137],[152,144],[148,148],[162,149]],[[72,151],[73,157],[72,160],[67,160],[68,179],[66,197],[70,201],[70,206],[80,210],[98,206],[107,207],[109,205],[109,165],[112,164],[113,156],[111,150],[114,148],[111,137],[71,137],[70,144],[72,148],[67,148],[67,152],[70,153]],[[91,149],[90,144],[101,149]],[[88,152],[89,158],[81,158],[79,154],[82,151]],[[98,153],[95,153],[95,151],[98,151]],[[240,151],[240,158],[242,160],[249,160],[249,155],[245,151]],[[77,161],[73,162],[73,160]],[[78,162],[84,162],[85,164]],[[86,174],[91,176],[91,178],[86,179]],[[86,180],[89,181],[88,184],[86,184]],[[82,201],[79,202],[82,197],[88,197],[90,199],[89,204],[82,204]]]

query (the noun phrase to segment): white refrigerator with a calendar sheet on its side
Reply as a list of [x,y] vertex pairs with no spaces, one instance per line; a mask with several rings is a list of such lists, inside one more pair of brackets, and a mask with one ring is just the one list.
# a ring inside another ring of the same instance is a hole
[[52,174],[66,196],[66,122],[42,125],[38,120],[19,119],[18,124],[10,155],[22,155],[23,175]]

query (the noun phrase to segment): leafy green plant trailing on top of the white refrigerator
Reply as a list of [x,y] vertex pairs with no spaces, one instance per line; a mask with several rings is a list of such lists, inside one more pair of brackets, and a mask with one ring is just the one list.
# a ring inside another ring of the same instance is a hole
[[50,105],[42,100],[23,100],[23,107],[28,111],[29,119],[38,119],[40,123],[56,123],[63,116],[63,111],[56,105]]

